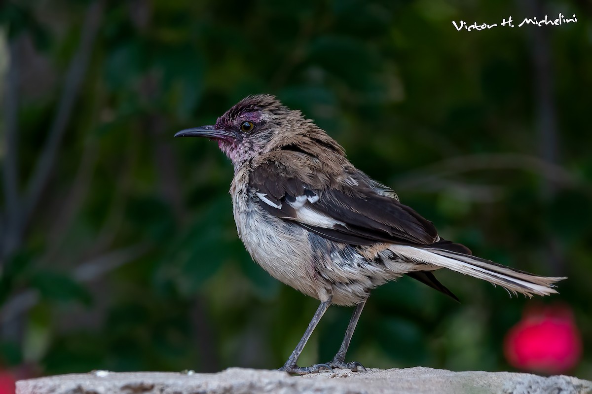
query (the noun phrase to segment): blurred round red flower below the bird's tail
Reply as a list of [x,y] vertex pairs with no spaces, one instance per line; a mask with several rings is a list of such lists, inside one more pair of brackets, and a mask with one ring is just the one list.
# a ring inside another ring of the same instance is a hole
[[559,374],[580,360],[582,341],[568,306],[525,310],[522,320],[506,335],[504,353],[509,363],[532,372]]

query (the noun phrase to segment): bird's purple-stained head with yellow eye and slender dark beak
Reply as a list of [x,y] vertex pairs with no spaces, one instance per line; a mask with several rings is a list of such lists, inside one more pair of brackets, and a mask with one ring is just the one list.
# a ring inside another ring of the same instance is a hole
[[[175,137],[207,137],[218,141],[220,149],[234,166],[246,163],[268,151],[279,141],[289,140],[302,128],[314,127],[300,111],[292,111],[271,95],[255,95],[242,99],[216,121],[179,131]],[[275,142],[277,141],[277,142]]]

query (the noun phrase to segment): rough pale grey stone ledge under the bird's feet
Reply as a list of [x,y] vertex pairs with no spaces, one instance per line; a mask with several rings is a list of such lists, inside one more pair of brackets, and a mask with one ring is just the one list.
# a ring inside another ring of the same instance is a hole
[[114,373],[98,371],[17,382],[17,394],[247,394],[247,393],[591,393],[592,382],[570,376],[509,372],[450,372],[431,368],[335,370],[289,376],[269,370],[230,368],[220,373]]

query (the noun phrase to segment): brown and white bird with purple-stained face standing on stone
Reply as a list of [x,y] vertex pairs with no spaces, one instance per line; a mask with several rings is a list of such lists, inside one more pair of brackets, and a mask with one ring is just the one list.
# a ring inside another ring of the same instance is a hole
[[[555,282],[473,256],[440,237],[432,222],[346,158],[345,150],[301,111],[273,95],[251,95],[205,125],[175,137],[217,141],[231,160],[230,186],[239,238],[253,260],[280,282],[320,301],[279,370],[365,370],[346,353],[371,290],[407,275],[458,301],[433,272],[446,268],[526,296],[556,293]],[[353,306],[333,359],[298,366],[305,344],[330,305]]]

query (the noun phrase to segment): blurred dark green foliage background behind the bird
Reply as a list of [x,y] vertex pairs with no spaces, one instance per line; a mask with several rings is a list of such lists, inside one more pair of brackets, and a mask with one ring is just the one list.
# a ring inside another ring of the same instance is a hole
[[[560,302],[584,338],[570,373],[592,377],[590,3],[1,7],[0,364],[41,374],[281,366],[317,301],[244,251],[227,194],[233,170],[216,144],[172,138],[243,96],[272,93],[443,237],[570,277],[561,295],[528,301],[438,273],[461,304],[410,279],[390,283],[370,298],[348,359],[511,370],[506,332],[529,303]],[[578,21],[452,25],[559,12]],[[330,309],[302,365],[332,357],[349,314]]]

